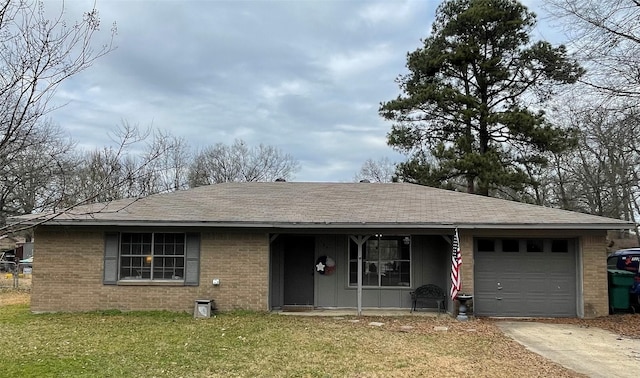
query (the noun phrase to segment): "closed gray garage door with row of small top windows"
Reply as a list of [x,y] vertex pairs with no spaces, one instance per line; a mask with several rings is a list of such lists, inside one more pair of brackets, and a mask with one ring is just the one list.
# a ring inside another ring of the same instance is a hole
[[575,241],[476,239],[474,313],[576,316]]

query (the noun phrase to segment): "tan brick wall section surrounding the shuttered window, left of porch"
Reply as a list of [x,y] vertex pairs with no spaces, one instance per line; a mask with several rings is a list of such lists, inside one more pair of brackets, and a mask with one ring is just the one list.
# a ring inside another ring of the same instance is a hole
[[[103,231],[39,227],[35,233],[31,310],[193,311],[196,299],[218,309],[268,310],[269,237],[265,233],[202,233],[200,285],[103,285]],[[221,285],[213,286],[219,278]]]

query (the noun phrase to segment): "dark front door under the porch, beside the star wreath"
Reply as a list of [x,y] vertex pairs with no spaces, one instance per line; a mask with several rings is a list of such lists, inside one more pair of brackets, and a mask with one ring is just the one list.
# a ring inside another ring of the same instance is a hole
[[284,241],[284,305],[313,306],[315,238],[287,235]]

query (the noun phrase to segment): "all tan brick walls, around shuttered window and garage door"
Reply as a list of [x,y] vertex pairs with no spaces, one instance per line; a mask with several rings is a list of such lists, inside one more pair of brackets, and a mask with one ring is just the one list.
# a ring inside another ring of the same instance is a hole
[[[507,231],[512,237],[567,237],[580,240],[583,312],[608,314],[604,232]],[[35,234],[32,311],[150,310],[193,311],[196,299],[214,299],[220,310],[267,311],[269,236],[266,233],[203,232],[200,285],[116,286],[102,284],[103,231],[39,227]],[[473,292],[473,239],[495,231],[460,230],[462,290]],[[501,236],[506,236],[501,233]],[[580,273],[578,273],[580,276]],[[220,279],[220,286],[211,281]],[[580,284],[578,284],[580,289]]]

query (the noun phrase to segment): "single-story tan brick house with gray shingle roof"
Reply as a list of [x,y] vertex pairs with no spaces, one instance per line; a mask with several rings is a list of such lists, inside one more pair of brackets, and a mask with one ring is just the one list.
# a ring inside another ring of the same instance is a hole
[[423,284],[449,291],[458,229],[475,315],[597,317],[607,230],[632,227],[407,183],[217,184],[38,224],[31,309],[409,309]]

